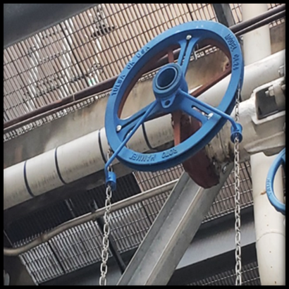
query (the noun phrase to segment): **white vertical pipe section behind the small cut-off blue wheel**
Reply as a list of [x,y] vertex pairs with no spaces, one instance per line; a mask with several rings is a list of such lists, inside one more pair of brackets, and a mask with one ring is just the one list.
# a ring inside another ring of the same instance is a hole
[[[275,158],[263,153],[251,156],[257,260],[262,285],[285,285],[285,216],[276,211],[266,195],[266,176]],[[274,192],[283,200],[281,168],[275,179]]]

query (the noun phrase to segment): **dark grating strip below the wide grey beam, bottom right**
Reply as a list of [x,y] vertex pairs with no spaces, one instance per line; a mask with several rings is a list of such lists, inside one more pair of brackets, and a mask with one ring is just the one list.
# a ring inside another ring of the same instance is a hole
[[[208,286],[208,285],[235,285],[235,269],[214,274],[202,280],[188,284],[190,286]],[[257,262],[245,264],[242,266],[242,285],[258,286],[261,285]]]

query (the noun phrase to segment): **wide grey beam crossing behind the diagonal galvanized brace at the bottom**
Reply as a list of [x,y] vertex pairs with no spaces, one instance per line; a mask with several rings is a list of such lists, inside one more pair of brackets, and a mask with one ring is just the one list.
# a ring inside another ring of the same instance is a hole
[[[252,206],[242,209],[241,219],[242,263],[249,264],[257,260]],[[135,249],[131,249],[121,254],[125,264],[130,262],[135,252]],[[202,280],[223,271],[233,270],[235,268],[234,256],[235,214],[232,211],[230,214],[202,223],[194,240],[187,247],[180,263],[173,272],[168,285],[187,285],[193,281]],[[99,283],[99,266],[99,262],[91,264],[85,268],[41,283],[41,285],[96,285]],[[114,286],[121,278],[121,271],[113,258],[109,259],[108,266],[107,282],[109,286]],[[246,277],[243,277],[245,282]],[[248,277],[251,279],[252,275]]]

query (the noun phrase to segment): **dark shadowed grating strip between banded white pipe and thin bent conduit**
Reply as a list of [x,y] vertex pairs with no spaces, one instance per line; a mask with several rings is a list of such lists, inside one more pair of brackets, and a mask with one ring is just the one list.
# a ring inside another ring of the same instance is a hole
[[[113,194],[112,202],[118,202],[140,192],[140,187],[133,174],[118,178],[118,186]],[[9,240],[17,247],[25,242],[37,238],[41,233],[47,232],[61,223],[88,214],[95,207],[104,207],[105,187],[101,185],[87,192],[80,191],[71,194],[69,199],[35,210],[32,214],[5,224],[4,230]]]

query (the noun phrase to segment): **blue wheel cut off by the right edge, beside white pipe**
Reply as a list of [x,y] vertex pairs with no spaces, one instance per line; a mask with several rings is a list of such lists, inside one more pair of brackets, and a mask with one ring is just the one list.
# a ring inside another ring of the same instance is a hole
[[277,199],[273,190],[274,178],[279,166],[281,165],[285,168],[285,149],[282,149],[281,152],[279,152],[276,159],[273,161],[273,164],[269,168],[268,176],[266,178],[266,193],[272,206],[285,216],[285,204]]

